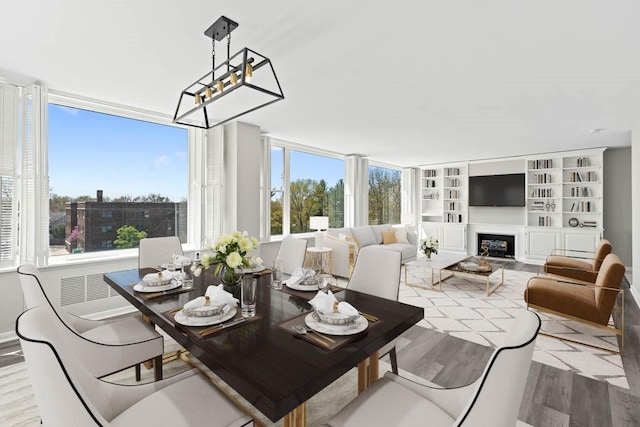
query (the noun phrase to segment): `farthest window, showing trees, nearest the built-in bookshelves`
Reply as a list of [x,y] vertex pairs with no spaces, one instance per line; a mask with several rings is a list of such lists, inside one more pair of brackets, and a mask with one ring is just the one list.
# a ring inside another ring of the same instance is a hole
[[400,171],[369,166],[369,224],[400,223]]

